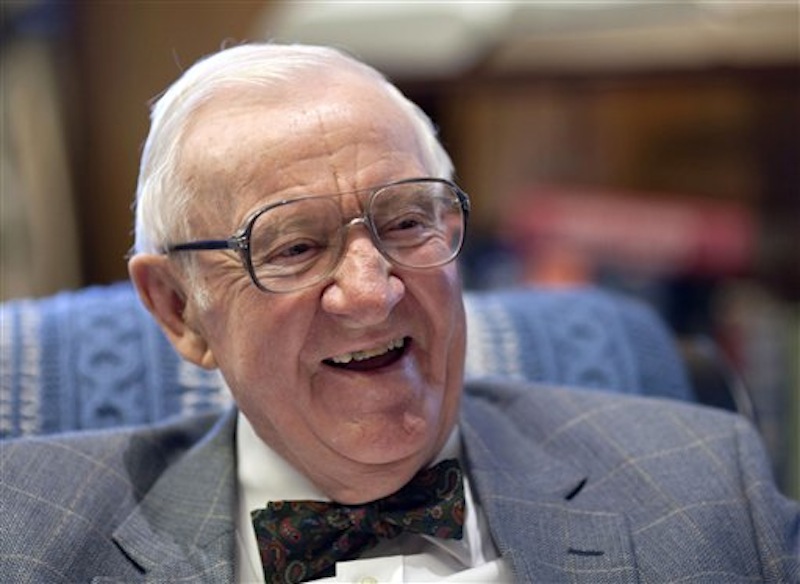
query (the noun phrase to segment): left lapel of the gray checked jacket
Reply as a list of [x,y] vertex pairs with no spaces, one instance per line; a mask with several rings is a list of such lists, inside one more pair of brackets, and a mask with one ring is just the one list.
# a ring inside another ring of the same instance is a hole
[[146,582],[232,582],[236,476],[234,411],[169,467],[114,533]]

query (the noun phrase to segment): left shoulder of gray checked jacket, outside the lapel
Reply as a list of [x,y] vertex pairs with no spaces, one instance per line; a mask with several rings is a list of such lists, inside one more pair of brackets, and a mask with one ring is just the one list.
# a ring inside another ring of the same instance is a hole
[[112,533],[217,418],[0,442],[0,571],[67,582],[78,577],[67,566],[129,569]]

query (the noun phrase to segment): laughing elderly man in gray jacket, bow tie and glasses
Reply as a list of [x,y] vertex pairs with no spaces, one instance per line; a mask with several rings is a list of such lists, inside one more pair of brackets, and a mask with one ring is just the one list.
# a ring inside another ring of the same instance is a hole
[[237,407],[5,445],[4,578],[798,581],[798,506],[741,419],[462,387],[451,175],[427,118],[339,52],[189,69],[153,111],[129,268]]

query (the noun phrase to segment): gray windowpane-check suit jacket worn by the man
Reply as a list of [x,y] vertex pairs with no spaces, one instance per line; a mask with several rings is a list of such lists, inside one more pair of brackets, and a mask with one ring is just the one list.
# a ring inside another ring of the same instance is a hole
[[[0,579],[230,582],[235,415],[0,444]],[[800,508],[742,419],[466,389],[468,472],[520,582],[798,582]]]

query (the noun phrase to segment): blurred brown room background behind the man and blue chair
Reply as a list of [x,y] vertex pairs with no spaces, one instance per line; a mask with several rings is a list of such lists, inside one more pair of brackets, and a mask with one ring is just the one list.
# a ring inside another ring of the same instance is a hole
[[474,204],[467,287],[595,283],[651,303],[690,362],[723,365],[694,375],[749,399],[800,491],[796,1],[0,10],[3,300],[126,278],[148,104],[198,57],[333,44],[440,127]]

